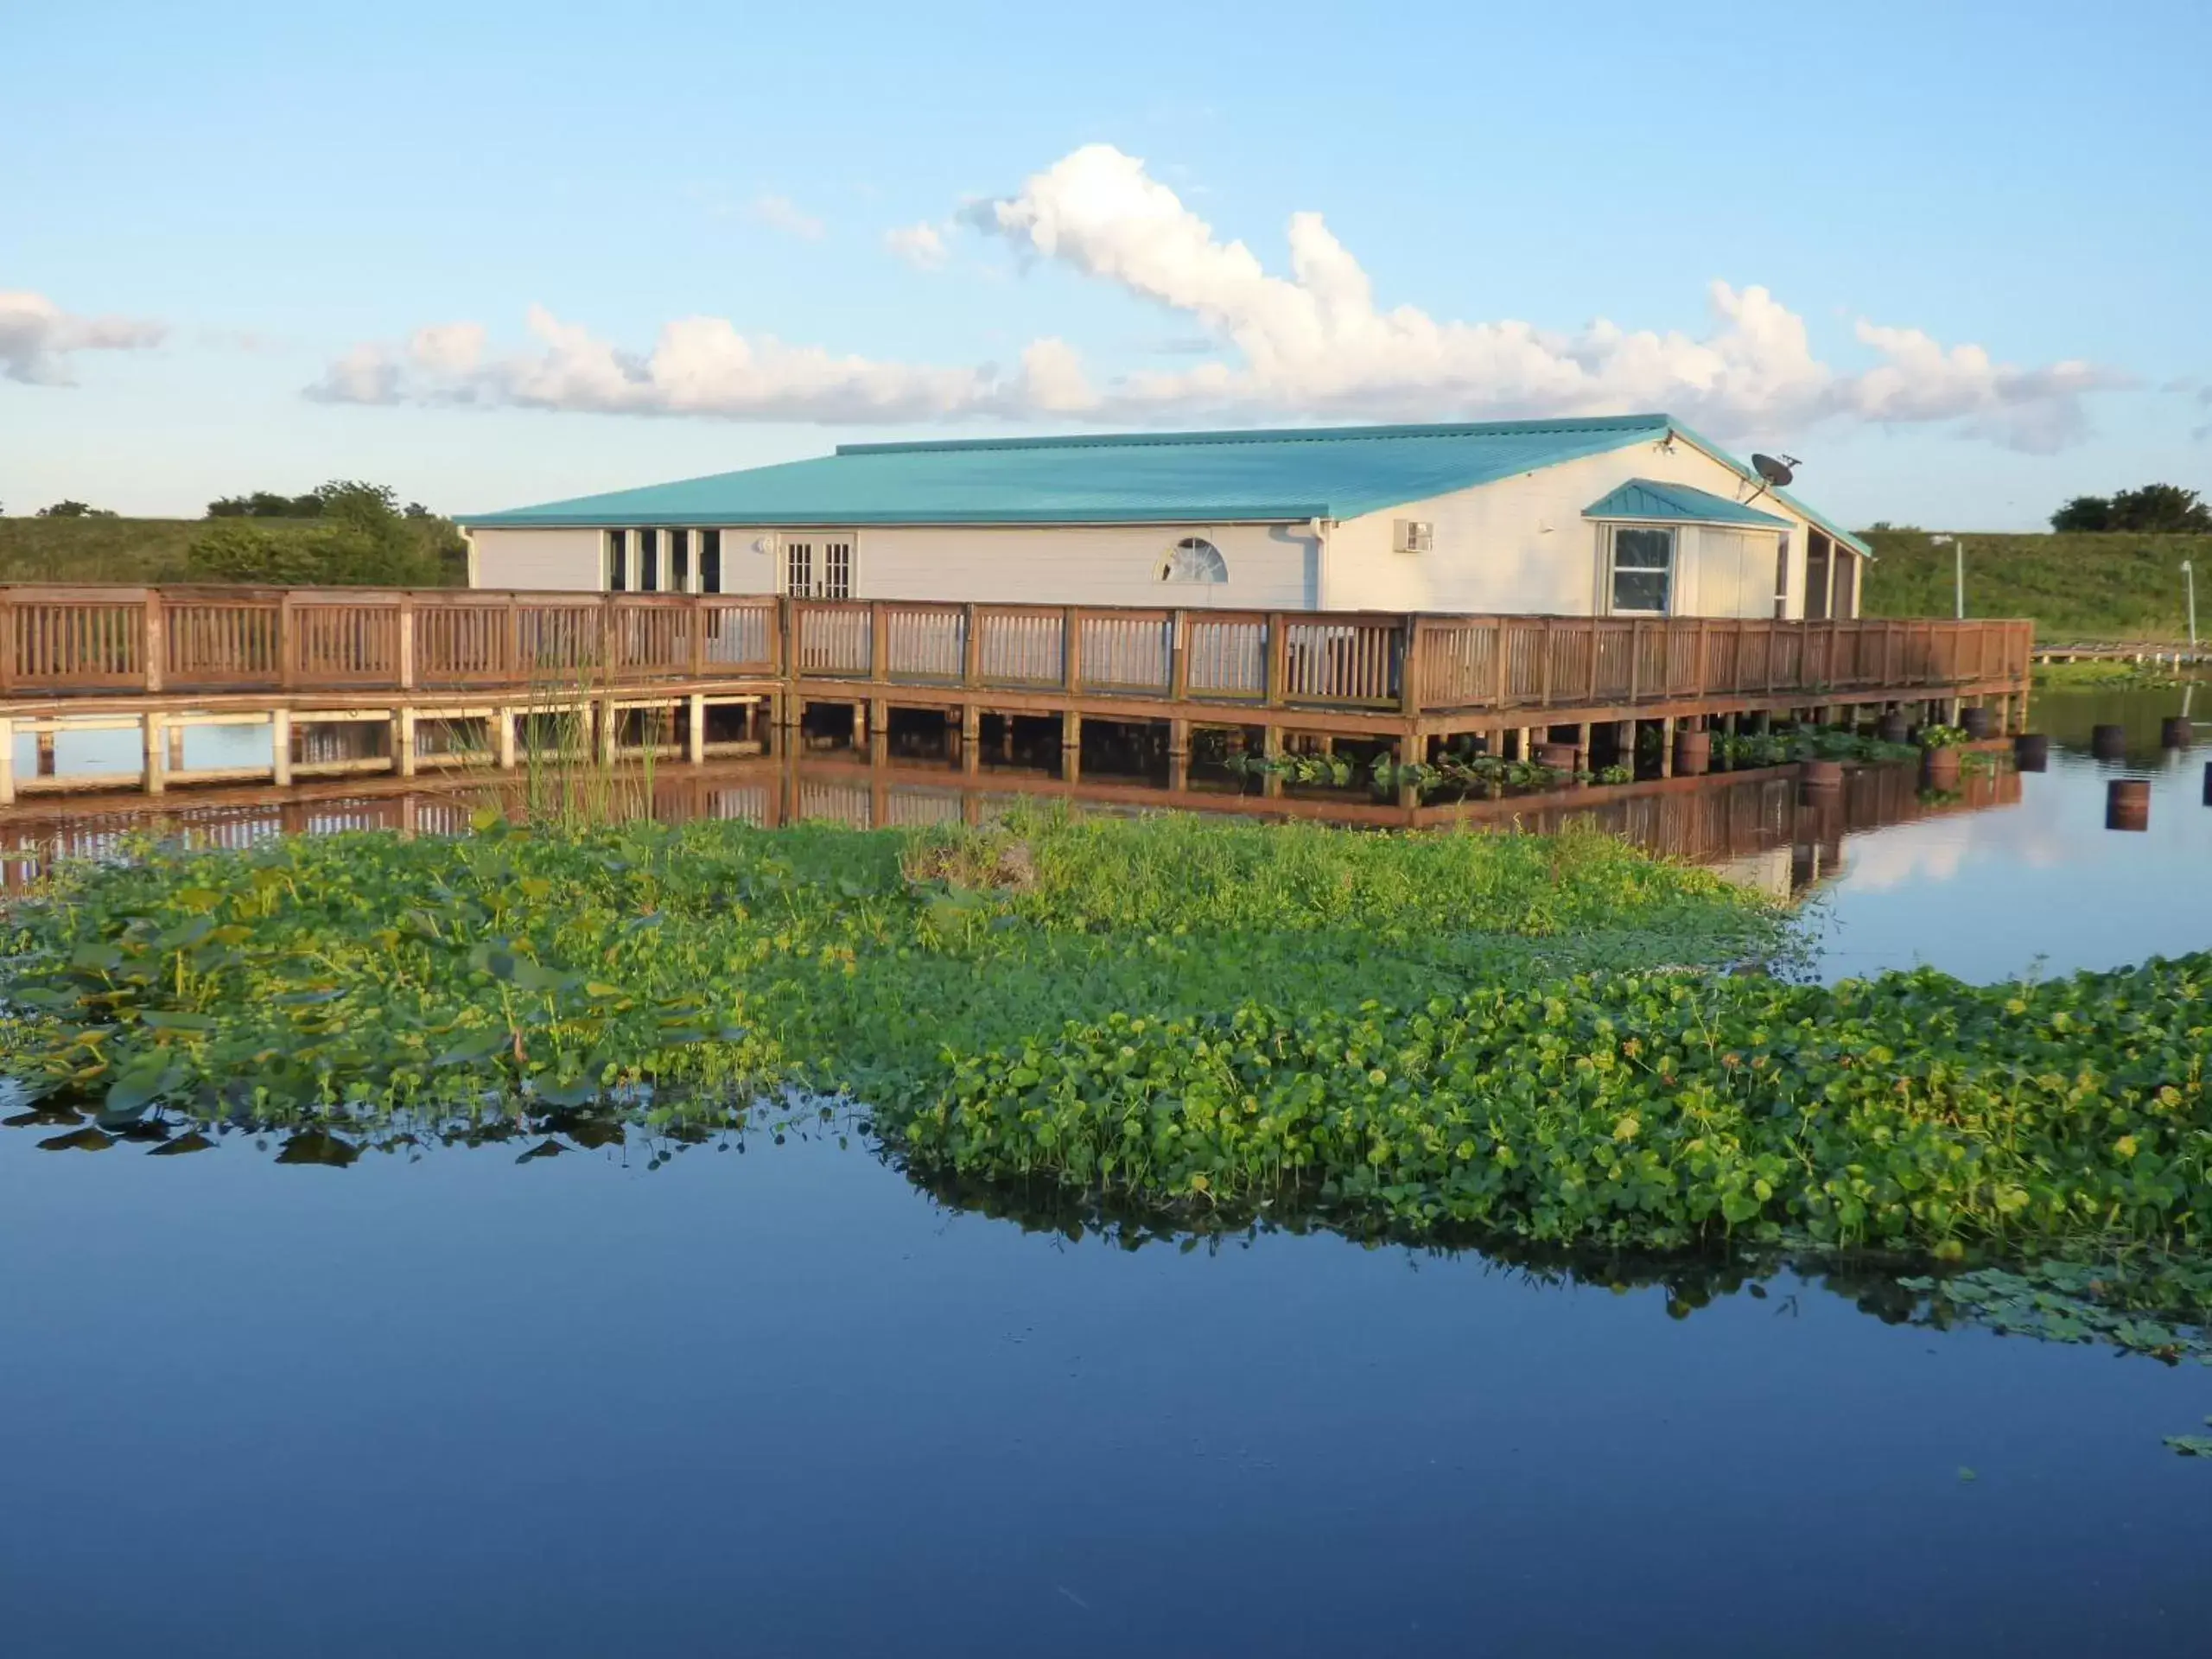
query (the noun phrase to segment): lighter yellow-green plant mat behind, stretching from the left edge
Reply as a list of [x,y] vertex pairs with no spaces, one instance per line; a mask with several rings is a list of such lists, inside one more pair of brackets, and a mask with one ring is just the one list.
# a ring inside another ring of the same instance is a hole
[[1597,834],[1026,816],[144,847],[11,916],[0,1066],[40,1093],[296,1117],[927,1079],[1113,1006],[1778,949],[1776,911]]

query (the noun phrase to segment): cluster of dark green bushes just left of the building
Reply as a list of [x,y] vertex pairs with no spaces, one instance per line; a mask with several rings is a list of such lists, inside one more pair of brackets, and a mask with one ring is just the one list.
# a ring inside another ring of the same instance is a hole
[[[254,502],[279,502],[281,511]],[[467,555],[451,522],[420,502],[400,507],[387,484],[356,478],[334,478],[310,495],[230,495],[210,502],[208,518],[215,522],[186,551],[186,573],[195,582],[436,586]],[[314,524],[274,529],[257,518],[312,518]]]

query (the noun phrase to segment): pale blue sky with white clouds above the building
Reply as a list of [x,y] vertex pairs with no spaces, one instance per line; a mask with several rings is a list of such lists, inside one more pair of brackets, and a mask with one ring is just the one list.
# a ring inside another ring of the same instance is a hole
[[11,513],[1601,407],[2212,491],[2201,0],[13,11]]

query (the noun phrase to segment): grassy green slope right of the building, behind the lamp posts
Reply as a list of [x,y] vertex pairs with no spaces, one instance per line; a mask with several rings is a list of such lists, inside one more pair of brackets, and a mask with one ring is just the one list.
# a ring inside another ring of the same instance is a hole
[[[2039,641],[2188,639],[2181,560],[2212,619],[2212,535],[1978,535],[1966,540],[1966,615],[2033,617]],[[1869,617],[1949,617],[1953,549],[1924,531],[1871,531]]]

